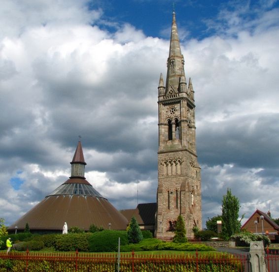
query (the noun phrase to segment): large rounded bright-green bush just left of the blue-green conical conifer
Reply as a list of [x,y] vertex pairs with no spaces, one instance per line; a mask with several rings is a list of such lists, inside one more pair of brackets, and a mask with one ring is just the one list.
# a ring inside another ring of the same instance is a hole
[[91,252],[114,252],[118,248],[118,237],[120,244],[128,244],[126,231],[105,230],[91,234],[89,237],[89,251]]

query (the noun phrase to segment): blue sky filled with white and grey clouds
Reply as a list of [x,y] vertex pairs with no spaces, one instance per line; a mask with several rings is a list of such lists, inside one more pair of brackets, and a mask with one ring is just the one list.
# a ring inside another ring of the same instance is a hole
[[172,12],[196,103],[203,226],[227,188],[279,217],[278,0],[0,0],[0,217],[70,176],[117,209],[156,202]]

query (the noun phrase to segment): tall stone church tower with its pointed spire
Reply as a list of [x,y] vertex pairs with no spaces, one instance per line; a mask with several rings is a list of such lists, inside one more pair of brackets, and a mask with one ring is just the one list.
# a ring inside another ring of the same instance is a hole
[[186,236],[202,228],[201,168],[196,152],[194,90],[187,85],[184,58],[173,12],[166,87],[161,73],[158,87],[159,149],[156,237],[173,237],[179,214]]

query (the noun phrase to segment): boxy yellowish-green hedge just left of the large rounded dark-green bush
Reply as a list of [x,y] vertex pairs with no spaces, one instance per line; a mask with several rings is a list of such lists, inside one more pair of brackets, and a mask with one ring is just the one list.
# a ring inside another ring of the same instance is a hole
[[54,247],[58,251],[88,251],[91,233],[68,233],[58,235]]

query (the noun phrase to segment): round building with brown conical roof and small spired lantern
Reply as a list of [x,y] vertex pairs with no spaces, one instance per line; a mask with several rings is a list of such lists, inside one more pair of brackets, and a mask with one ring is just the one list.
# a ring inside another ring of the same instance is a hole
[[104,229],[127,228],[127,219],[85,179],[86,163],[80,141],[70,164],[70,178],[9,226],[8,231],[24,230],[28,223],[31,231],[62,232],[64,222],[68,228],[85,231],[92,224]]

